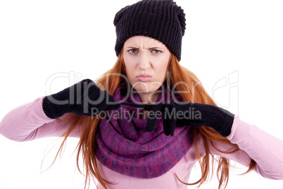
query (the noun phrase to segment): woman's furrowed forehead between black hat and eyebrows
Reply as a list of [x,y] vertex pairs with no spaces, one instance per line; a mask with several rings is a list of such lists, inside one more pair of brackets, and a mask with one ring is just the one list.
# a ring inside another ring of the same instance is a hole
[[130,46],[144,46],[144,47],[165,47],[165,45],[158,41],[157,39],[153,39],[151,37],[146,37],[146,36],[134,36],[130,37],[127,39],[125,42],[125,46],[130,45]]

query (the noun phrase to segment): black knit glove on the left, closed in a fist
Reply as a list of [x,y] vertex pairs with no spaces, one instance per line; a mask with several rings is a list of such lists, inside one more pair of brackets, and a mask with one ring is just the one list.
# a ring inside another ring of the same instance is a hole
[[66,113],[79,116],[95,116],[101,111],[118,109],[113,97],[101,90],[92,80],[82,80],[56,94],[44,97],[42,108],[49,118],[58,118]]

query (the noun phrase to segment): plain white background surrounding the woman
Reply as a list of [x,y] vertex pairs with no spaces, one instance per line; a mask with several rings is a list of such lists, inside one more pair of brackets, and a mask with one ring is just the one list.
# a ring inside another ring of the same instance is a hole
[[[282,1],[176,1],[187,18],[180,63],[220,106],[283,139]],[[51,92],[83,78],[96,79],[111,68],[116,60],[113,18],[134,2],[1,0],[0,119],[16,106],[50,94],[45,85],[56,73],[70,73],[71,80],[54,80]],[[60,141],[13,142],[0,135],[0,189],[83,188],[84,177],[72,156],[77,139],[70,139],[63,158],[40,173],[44,152],[52,149],[43,170]],[[257,173],[237,176],[246,171],[239,167],[232,169],[228,189],[283,188],[283,181]],[[198,166],[196,170],[190,182],[199,178]],[[217,188],[217,183],[214,178],[201,188]]]

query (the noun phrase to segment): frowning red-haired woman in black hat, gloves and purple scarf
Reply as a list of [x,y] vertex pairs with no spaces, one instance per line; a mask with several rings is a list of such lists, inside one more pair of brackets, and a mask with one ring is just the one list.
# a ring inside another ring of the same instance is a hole
[[[227,159],[282,179],[282,141],[218,109],[196,76],[178,63],[184,21],[182,8],[172,1],[122,8],[114,20],[118,61],[96,81],[108,92],[83,80],[14,109],[1,121],[1,134],[13,140],[80,137],[87,178],[94,175],[99,188],[185,188],[197,160],[201,184],[211,171],[211,154],[221,156],[220,186],[227,181]],[[11,121],[13,114],[20,122]]]

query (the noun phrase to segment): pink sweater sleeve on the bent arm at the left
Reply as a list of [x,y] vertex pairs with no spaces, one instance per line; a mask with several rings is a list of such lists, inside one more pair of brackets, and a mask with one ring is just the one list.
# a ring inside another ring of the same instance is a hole
[[[48,118],[42,109],[42,100],[40,97],[8,112],[0,122],[0,134],[19,142],[63,135],[72,122],[62,120],[70,115],[65,114],[60,120]],[[72,137],[80,137],[79,128]]]

